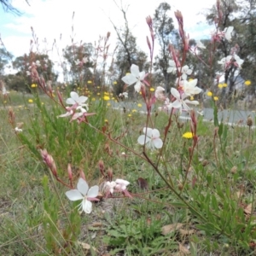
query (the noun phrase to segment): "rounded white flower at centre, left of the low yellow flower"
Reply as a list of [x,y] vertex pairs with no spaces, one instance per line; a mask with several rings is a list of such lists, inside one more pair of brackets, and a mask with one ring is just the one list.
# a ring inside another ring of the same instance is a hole
[[145,134],[137,138],[137,143],[141,145],[146,144],[151,149],[162,148],[163,142],[160,139],[160,132],[157,129],[144,127],[143,132]]

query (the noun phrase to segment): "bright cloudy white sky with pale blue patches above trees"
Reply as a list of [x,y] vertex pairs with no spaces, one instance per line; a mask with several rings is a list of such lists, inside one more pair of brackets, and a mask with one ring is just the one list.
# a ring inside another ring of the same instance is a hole
[[[114,2],[115,1],[115,2]],[[137,44],[145,52],[148,50],[146,36],[149,36],[145,18],[154,16],[154,10],[163,0],[13,0],[13,6],[22,15],[5,13],[0,7],[0,36],[6,49],[15,57],[29,53],[32,40],[32,29],[35,32],[40,51],[47,51],[49,58],[58,61],[56,49],[64,49],[72,44],[94,43],[99,36],[111,32],[110,51],[116,42],[113,25],[124,26],[122,13],[117,5],[123,4],[127,9],[126,16]],[[116,4],[117,5],[116,5]],[[209,38],[210,28],[205,16],[202,15],[211,8],[216,0],[167,0],[172,7],[170,15],[177,27],[174,11],[183,14],[184,28],[190,38]],[[74,16],[73,16],[74,12]],[[73,26],[73,32],[72,32]],[[60,39],[61,37],[61,39]],[[53,42],[56,48],[51,51]],[[35,50],[36,48],[34,48]]]

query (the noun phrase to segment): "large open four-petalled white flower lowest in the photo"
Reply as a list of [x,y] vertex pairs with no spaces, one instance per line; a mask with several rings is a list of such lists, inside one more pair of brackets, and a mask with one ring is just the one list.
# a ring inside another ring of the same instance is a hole
[[65,194],[70,201],[82,200],[81,204],[79,205],[79,210],[82,209],[84,212],[90,213],[92,207],[90,201],[98,201],[96,196],[98,195],[99,187],[93,186],[89,189],[88,184],[83,178],[80,177],[77,188],[78,189],[71,189]]

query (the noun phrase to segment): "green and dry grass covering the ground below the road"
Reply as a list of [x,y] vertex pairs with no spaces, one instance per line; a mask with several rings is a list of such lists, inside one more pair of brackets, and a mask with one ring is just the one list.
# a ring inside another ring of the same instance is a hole
[[[137,137],[146,115],[90,102],[90,112],[97,113],[89,117],[90,124],[104,136],[90,125],[57,119],[63,113],[57,104],[42,104],[41,96],[33,99],[32,105],[25,101],[25,108],[14,108],[13,125],[24,123],[19,134],[9,124],[8,108],[0,110],[1,255],[253,255],[254,130],[216,128],[199,117],[200,139],[186,171],[193,140],[182,135],[190,131],[189,122],[173,117],[158,170],[181,200],[143,160]],[[167,119],[166,113],[152,115],[161,137]],[[102,188],[98,161],[103,160],[113,179],[130,181],[132,199],[119,195],[102,199],[93,203],[90,214],[79,215],[79,203],[67,200],[67,188],[44,165],[39,148],[47,148],[53,156],[62,180],[68,181],[67,165],[72,164],[73,184],[83,171],[90,186]],[[159,151],[146,154],[155,165]]]

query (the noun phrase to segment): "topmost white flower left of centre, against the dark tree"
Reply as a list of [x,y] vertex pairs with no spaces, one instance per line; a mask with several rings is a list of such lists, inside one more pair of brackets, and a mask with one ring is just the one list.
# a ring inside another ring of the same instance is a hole
[[142,82],[143,79],[145,78],[145,72],[139,72],[139,68],[137,65],[132,64],[131,65],[131,73],[126,74],[125,77],[122,78],[122,80],[125,82],[125,84],[134,85],[134,89],[137,92],[140,92],[141,87],[142,87]]

